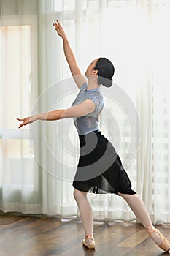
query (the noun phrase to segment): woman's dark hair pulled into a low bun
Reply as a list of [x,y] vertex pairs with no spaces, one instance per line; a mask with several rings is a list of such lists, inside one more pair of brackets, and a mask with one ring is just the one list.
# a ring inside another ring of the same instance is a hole
[[112,76],[115,73],[115,67],[107,58],[99,58],[96,62],[95,70],[98,70],[98,83],[103,86],[112,86]]

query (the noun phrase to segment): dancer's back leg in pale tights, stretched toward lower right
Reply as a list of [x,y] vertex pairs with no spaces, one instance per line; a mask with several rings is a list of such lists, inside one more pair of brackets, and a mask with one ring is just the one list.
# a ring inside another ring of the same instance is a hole
[[[155,230],[155,227],[152,225],[150,215],[148,214],[144,202],[139,197],[139,195],[126,195],[122,193],[119,194],[123,197],[123,199],[125,199],[125,201],[128,203],[128,206],[130,206],[136,217],[140,219],[144,227],[146,227],[148,231]],[[161,237],[158,235],[158,233],[152,233],[151,238],[153,241],[155,241],[156,244],[158,244],[158,246],[162,244]]]

